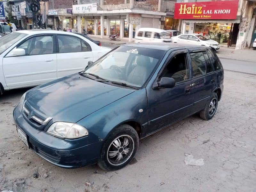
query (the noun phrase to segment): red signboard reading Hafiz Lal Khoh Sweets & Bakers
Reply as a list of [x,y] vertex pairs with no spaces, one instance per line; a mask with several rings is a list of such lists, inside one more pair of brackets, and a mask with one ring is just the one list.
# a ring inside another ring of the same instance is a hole
[[238,1],[175,3],[174,19],[236,19]]

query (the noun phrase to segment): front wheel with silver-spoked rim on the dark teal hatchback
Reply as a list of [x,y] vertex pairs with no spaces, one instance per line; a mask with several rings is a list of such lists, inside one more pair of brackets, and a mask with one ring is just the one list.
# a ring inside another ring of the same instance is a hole
[[107,171],[121,169],[132,161],[138,147],[138,133],[128,124],[120,125],[107,136],[98,165]]

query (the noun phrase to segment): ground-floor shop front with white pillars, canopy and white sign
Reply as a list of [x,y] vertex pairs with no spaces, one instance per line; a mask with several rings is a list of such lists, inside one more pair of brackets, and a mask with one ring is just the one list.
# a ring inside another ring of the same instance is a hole
[[117,34],[121,39],[132,41],[135,30],[140,27],[160,28],[160,18],[166,13],[143,10],[125,10],[125,12],[97,10],[97,4],[92,3],[73,5],[73,14],[77,16],[78,31],[100,38]]

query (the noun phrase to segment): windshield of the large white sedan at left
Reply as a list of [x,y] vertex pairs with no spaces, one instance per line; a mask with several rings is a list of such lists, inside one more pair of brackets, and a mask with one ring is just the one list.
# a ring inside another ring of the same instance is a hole
[[6,49],[11,47],[14,43],[25,36],[27,36],[25,33],[10,33],[8,35],[2,36],[0,40],[0,54],[2,54]]

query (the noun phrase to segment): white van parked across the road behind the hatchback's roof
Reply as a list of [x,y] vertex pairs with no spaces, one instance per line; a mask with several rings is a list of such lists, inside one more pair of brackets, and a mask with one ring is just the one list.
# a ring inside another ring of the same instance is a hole
[[161,43],[170,41],[170,32],[157,28],[140,28],[136,31],[134,40],[136,43]]

